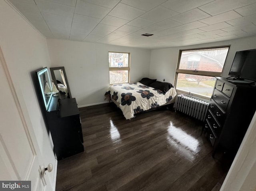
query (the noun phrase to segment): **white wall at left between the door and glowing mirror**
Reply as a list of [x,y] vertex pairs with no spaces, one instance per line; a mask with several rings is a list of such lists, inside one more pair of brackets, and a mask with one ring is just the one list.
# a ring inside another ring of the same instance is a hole
[[[0,46],[22,113],[34,129],[44,164],[54,165],[54,153],[30,75],[34,70],[50,66],[46,39],[3,0],[0,1]],[[0,112],[4,113],[2,109]],[[52,185],[53,176],[54,173],[49,173]]]

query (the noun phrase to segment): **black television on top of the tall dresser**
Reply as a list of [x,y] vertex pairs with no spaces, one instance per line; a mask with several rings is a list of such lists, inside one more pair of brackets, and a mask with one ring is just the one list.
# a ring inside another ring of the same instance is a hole
[[236,52],[229,75],[238,79],[256,80],[256,49]]

